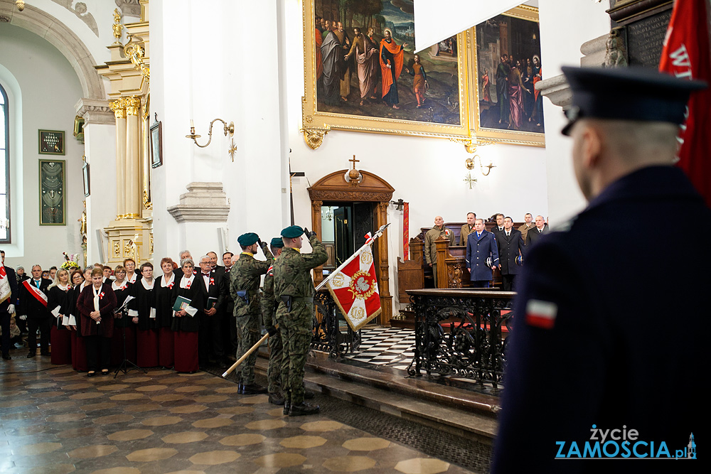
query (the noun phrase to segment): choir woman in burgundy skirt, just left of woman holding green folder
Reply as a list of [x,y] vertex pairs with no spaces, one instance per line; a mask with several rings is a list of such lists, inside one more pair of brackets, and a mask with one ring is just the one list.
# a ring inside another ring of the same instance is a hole
[[171,329],[173,303],[176,301],[176,276],[173,274],[173,260],[161,259],[163,275],[156,279],[153,290],[153,307],[156,308],[156,328],[158,328],[158,362],[161,367],[172,369],[175,364],[175,335]]

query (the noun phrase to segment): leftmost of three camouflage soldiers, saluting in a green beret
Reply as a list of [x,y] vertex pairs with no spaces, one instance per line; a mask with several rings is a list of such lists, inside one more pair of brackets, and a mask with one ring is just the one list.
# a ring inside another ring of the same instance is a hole
[[[242,247],[242,254],[230,271],[230,294],[235,300],[235,319],[237,320],[237,359],[245,355],[260,340],[262,330],[260,309],[260,280],[272,266],[274,257],[267,244],[260,237],[249,232],[237,239]],[[259,242],[259,244],[257,244]],[[255,259],[257,248],[262,247],[266,261]],[[240,367],[240,386],[237,393],[263,394],[267,389],[255,384],[255,362],[257,351],[252,352]]]

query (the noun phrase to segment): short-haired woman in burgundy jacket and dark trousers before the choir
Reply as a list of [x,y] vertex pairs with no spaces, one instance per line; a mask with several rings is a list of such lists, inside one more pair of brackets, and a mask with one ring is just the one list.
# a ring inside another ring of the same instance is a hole
[[111,289],[111,284],[104,283],[103,269],[93,269],[91,281],[92,284],[85,286],[77,299],[81,332],[86,343],[89,363],[87,377],[93,377],[99,370],[102,375],[109,373],[114,308],[116,308],[116,295]]

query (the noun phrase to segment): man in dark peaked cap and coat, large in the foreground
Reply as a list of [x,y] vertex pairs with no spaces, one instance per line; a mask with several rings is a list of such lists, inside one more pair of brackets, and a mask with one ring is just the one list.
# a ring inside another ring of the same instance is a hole
[[695,222],[685,254],[705,254],[711,210],[672,166],[686,102],[704,84],[634,68],[563,72],[563,133],[589,204],[526,255],[492,473],[637,469],[624,458],[645,458],[644,473],[698,472],[698,460],[670,457],[695,457],[690,437],[706,423],[711,274],[680,257],[680,235],[621,229]]

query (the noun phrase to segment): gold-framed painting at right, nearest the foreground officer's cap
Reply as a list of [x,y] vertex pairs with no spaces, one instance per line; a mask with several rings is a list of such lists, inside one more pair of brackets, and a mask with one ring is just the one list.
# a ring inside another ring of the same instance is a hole
[[538,9],[518,6],[472,28],[474,133],[481,141],[545,146]]

